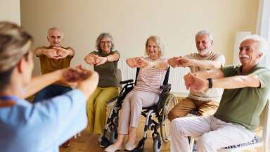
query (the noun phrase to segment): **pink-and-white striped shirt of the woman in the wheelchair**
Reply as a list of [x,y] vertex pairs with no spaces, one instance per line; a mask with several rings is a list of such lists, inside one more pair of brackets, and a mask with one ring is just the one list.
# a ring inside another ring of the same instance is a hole
[[[150,58],[145,59],[148,61],[152,61]],[[158,70],[155,67],[141,68],[134,89],[138,91],[152,91],[156,94],[160,94],[160,86],[163,84],[166,71],[167,70]]]

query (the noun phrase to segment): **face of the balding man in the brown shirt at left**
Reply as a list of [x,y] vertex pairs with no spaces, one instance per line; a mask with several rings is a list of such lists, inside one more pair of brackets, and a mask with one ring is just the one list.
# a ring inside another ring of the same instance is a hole
[[60,47],[61,42],[64,38],[64,35],[62,32],[60,32],[58,30],[50,30],[47,38],[48,38],[48,41],[50,43],[50,46]]

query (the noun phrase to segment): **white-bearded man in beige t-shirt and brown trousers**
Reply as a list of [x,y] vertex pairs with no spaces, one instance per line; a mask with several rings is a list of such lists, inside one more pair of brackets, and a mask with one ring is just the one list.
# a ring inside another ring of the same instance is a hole
[[[188,67],[191,73],[221,68],[225,64],[222,54],[213,51],[213,36],[205,30],[195,35],[195,44],[198,52],[186,56],[170,58],[168,63],[173,68]],[[198,110],[198,115],[212,115],[216,112],[223,90],[220,88],[206,89],[204,91],[191,90],[188,97],[169,111],[169,120],[184,117],[192,110]]]

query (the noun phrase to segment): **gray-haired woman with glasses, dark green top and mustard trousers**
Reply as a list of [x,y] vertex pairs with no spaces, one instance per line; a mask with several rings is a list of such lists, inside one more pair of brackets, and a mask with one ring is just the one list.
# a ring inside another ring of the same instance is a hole
[[98,87],[87,102],[88,129],[90,133],[101,134],[99,142],[105,125],[107,102],[119,93],[116,72],[120,53],[113,51],[114,46],[112,35],[101,33],[96,39],[97,51],[92,51],[84,58],[86,63],[94,65],[94,70],[100,75]]

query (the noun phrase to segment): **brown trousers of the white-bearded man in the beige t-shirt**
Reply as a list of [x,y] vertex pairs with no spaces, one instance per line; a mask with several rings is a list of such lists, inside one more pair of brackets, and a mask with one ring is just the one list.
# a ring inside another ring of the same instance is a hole
[[168,118],[170,121],[175,118],[180,118],[191,113],[192,110],[198,110],[198,115],[213,115],[217,108],[219,107],[219,102],[216,101],[198,101],[191,98],[185,98],[169,111]]

